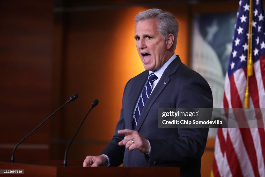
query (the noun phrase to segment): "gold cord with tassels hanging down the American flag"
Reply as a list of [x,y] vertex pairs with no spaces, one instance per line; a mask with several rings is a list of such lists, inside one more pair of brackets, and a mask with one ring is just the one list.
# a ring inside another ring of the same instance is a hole
[[248,39],[248,65],[247,65],[247,85],[245,93],[245,108],[249,108],[249,77],[253,76],[252,60],[252,0],[249,2],[249,39]]

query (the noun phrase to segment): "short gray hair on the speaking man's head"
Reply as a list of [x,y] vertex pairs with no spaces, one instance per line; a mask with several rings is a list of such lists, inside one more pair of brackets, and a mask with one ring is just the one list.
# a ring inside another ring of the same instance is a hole
[[163,39],[166,40],[168,35],[171,33],[174,36],[174,41],[171,49],[176,49],[179,24],[175,17],[169,12],[164,12],[158,8],[151,8],[143,12],[139,12],[135,16],[136,24],[135,28],[139,21],[147,19],[156,19],[157,20],[157,30],[163,36]]

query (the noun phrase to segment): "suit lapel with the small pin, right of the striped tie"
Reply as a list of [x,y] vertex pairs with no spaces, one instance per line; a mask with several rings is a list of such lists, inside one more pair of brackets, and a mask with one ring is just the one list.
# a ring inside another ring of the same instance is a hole
[[[153,103],[157,99],[157,97],[160,95],[160,93],[164,90],[166,85],[169,83],[169,81],[170,81],[169,76],[176,72],[180,63],[181,63],[180,58],[177,55],[177,57],[169,64],[169,66],[166,68],[166,70],[162,74],[162,77],[158,81],[156,87],[154,88],[153,92],[151,93],[150,97],[148,98],[147,102],[144,105],[144,108],[142,110],[142,113],[140,115],[139,121],[138,121],[137,126],[136,126],[136,131],[139,131],[139,129],[141,128],[145,118],[147,117],[147,114],[148,114],[151,106],[153,105]],[[138,95],[140,95],[140,93]]]

